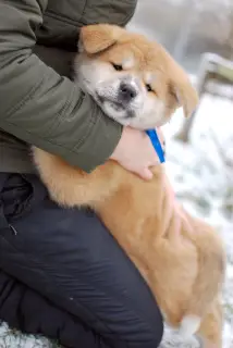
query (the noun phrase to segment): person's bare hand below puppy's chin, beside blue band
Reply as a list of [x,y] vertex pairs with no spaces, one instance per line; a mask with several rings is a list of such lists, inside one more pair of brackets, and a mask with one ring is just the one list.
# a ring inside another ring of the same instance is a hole
[[[157,132],[163,147],[162,133],[160,129]],[[151,167],[160,163],[147,134],[130,127],[124,127],[122,137],[110,159],[146,181],[152,178]]]

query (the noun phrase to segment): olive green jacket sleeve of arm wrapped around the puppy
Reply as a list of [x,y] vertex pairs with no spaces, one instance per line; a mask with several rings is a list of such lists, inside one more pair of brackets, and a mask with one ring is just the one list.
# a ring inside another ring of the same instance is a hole
[[122,127],[32,53],[46,0],[0,1],[0,128],[90,172]]

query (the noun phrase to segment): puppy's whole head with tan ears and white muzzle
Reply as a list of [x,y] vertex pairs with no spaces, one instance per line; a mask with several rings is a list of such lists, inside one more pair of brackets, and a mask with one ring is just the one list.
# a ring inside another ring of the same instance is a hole
[[85,92],[123,125],[161,126],[183,107],[188,116],[197,94],[187,75],[157,42],[114,25],[81,30],[75,71]]

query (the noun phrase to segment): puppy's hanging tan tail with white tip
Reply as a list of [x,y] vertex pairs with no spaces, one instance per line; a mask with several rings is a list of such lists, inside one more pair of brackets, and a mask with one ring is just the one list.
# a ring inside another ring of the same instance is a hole
[[198,274],[181,321],[183,335],[193,335],[199,330],[204,315],[219,295],[225,273],[225,252],[219,235],[206,225],[203,231],[194,233],[194,238],[198,253]]

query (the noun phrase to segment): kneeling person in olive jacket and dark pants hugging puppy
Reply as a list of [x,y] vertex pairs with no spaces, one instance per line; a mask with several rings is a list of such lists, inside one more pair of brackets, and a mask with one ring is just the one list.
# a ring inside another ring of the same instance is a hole
[[121,26],[135,0],[0,1],[0,319],[72,348],[156,348],[161,313],[94,212],[50,200],[29,145],[91,172],[109,158],[151,178],[149,138],[71,78],[78,29]]

